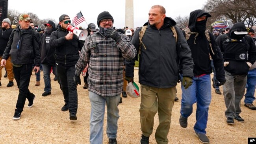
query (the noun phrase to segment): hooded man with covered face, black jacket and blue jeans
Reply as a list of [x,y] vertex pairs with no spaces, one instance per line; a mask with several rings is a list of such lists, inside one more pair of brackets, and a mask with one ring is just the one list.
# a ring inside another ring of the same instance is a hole
[[[206,125],[208,110],[211,103],[211,55],[216,70],[216,78],[220,82],[217,86],[225,83],[223,56],[212,33],[206,31],[207,18],[209,13],[200,9],[192,11],[189,17],[188,28],[184,29],[187,44],[192,53],[194,61],[193,84],[188,89],[182,87],[182,100],[180,110],[180,126],[187,127],[187,118],[192,114],[193,104],[197,103],[196,123],[194,130],[200,142],[208,144],[210,140],[206,137]],[[188,33],[188,31],[190,31]],[[190,34],[189,37],[187,35]],[[184,68],[180,67],[181,76],[184,75]]]

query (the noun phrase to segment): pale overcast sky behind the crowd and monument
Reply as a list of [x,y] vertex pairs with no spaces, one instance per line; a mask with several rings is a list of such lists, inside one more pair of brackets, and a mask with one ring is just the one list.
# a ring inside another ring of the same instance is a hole
[[[166,16],[175,19],[179,15],[189,16],[191,11],[202,9],[207,0],[134,0],[134,27],[143,26],[148,20],[151,6],[159,4],[165,7]],[[52,18],[59,22],[62,14],[72,20],[81,11],[87,24],[97,23],[98,14],[109,11],[113,16],[114,26],[124,28],[125,0],[8,0],[8,8],[20,13],[35,13],[40,19]],[[87,28],[82,22],[78,26]],[[97,24],[96,24],[97,27]]]

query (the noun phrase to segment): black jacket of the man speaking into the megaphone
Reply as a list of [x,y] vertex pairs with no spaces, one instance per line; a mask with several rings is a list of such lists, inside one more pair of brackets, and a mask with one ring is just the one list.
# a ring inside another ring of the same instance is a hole
[[76,35],[72,40],[66,40],[65,36],[69,31],[59,27],[57,31],[53,31],[50,37],[50,46],[55,48],[56,63],[65,66],[74,66],[79,58],[79,52],[82,46]]

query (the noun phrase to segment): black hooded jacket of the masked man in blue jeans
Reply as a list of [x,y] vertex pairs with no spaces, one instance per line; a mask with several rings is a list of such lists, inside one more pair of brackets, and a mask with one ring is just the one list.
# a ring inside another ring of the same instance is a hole
[[[189,17],[189,29],[191,32],[198,32],[196,29],[197,18],[204,15],[205,12],[198,9],[190,13]],[[182,31],[185,37],[185,32]],[[213,65],[216,70],[216,78],[218,81],[223,82],[225,80],[224,65],[223,65],[223,55],[219,46],[215,43],[215,37],[209,32],[211,47],[214,54],[211,52],[209,41],[206,38],[205,33],[199,33],[195,38],[196,34],[191,34],[187,40],[187,44],[192,53],[192,58],[194,61],[194,76],[200,76],[202,74],[211,74],[211,60],[210,55],[213,59]],[[210,55],[209,55],[210,54]],[[182,69],[182,66],[181,66]]]

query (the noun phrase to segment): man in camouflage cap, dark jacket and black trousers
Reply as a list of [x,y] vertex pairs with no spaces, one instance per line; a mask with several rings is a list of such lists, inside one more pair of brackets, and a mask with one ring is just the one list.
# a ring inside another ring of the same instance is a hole
[[[19,88],[19,96],[16,104],[13,120],[19,120],[23,111],[26,98],[28,107],[33,106],[35,95],[30,92],[28,85],[30,83],[32,63],[35,60],[35,72],[39,71],[40,49],[37,33],[32,30],[30,24],[31,18],[28,14],[22,14],[19,17],[20,26],[11,33],[6,50],[3,54],[1,65],[6,65],[6,60],[11,55],[13,63],[13,74]],[[38,33],[39,34],[39,33]]]

